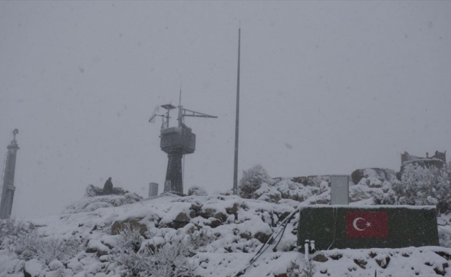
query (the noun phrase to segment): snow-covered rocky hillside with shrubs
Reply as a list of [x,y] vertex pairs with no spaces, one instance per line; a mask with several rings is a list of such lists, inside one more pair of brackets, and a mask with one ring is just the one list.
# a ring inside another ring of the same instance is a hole
[[[329,204],[324,179],[294,180],[262,184],[257,199],[84,197],[58,216],[3,221],[0,276],[451,276],[448,215],[438,219],[440,247],[320,249],[306,263],[296,251],[296,213],[282,239],[249,266],[296,208]],[[351,205],[374,204],[389,186],[362,177],[350,186]]]

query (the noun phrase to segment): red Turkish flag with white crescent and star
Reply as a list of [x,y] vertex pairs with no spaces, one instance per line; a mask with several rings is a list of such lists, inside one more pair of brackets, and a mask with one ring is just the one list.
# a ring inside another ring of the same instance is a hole
[[348,211],[346,235],[351,238],[387,238],[387,211]]

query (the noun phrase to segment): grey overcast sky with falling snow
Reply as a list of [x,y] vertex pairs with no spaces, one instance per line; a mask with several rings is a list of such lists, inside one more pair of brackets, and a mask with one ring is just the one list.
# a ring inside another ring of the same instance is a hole
[[185,193],[231,189],[240,24],[240,173],[398,170],[404,151],[451,150],[451,1],[0,1],[12,215],[57,213],[110,176],[161,192],[167,157],[147,120],[178,105],[181,82],[185,108],[218,116],[185,120]]

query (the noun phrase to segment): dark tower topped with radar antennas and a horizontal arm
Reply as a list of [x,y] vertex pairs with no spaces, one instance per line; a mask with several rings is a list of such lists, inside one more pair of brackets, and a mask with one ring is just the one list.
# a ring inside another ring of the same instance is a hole
[[149,122],[155,122],[157,116],[161,116],[162,124],[160,130],[160,148],[167,154],[167,170],[165,188],[163,193],[174,193],[183,195],[183,168],[182,158],[185,154],[192,154],[196,150],[196,134],[184,123],[185,116],[217,118],[208,114],[184,109],[181,105],[181,91],[178,104],[177,127],[169,127],[169,111],[176,109],[172,104],[161,105],[166,110],[165,114],[156,114],[154,110]]

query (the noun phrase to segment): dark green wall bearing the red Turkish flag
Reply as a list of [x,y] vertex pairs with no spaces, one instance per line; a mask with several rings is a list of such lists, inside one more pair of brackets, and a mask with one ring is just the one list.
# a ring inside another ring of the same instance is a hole
[[297,244],[367,249],[439,245],[434,206],[311,206],[300,211]]

